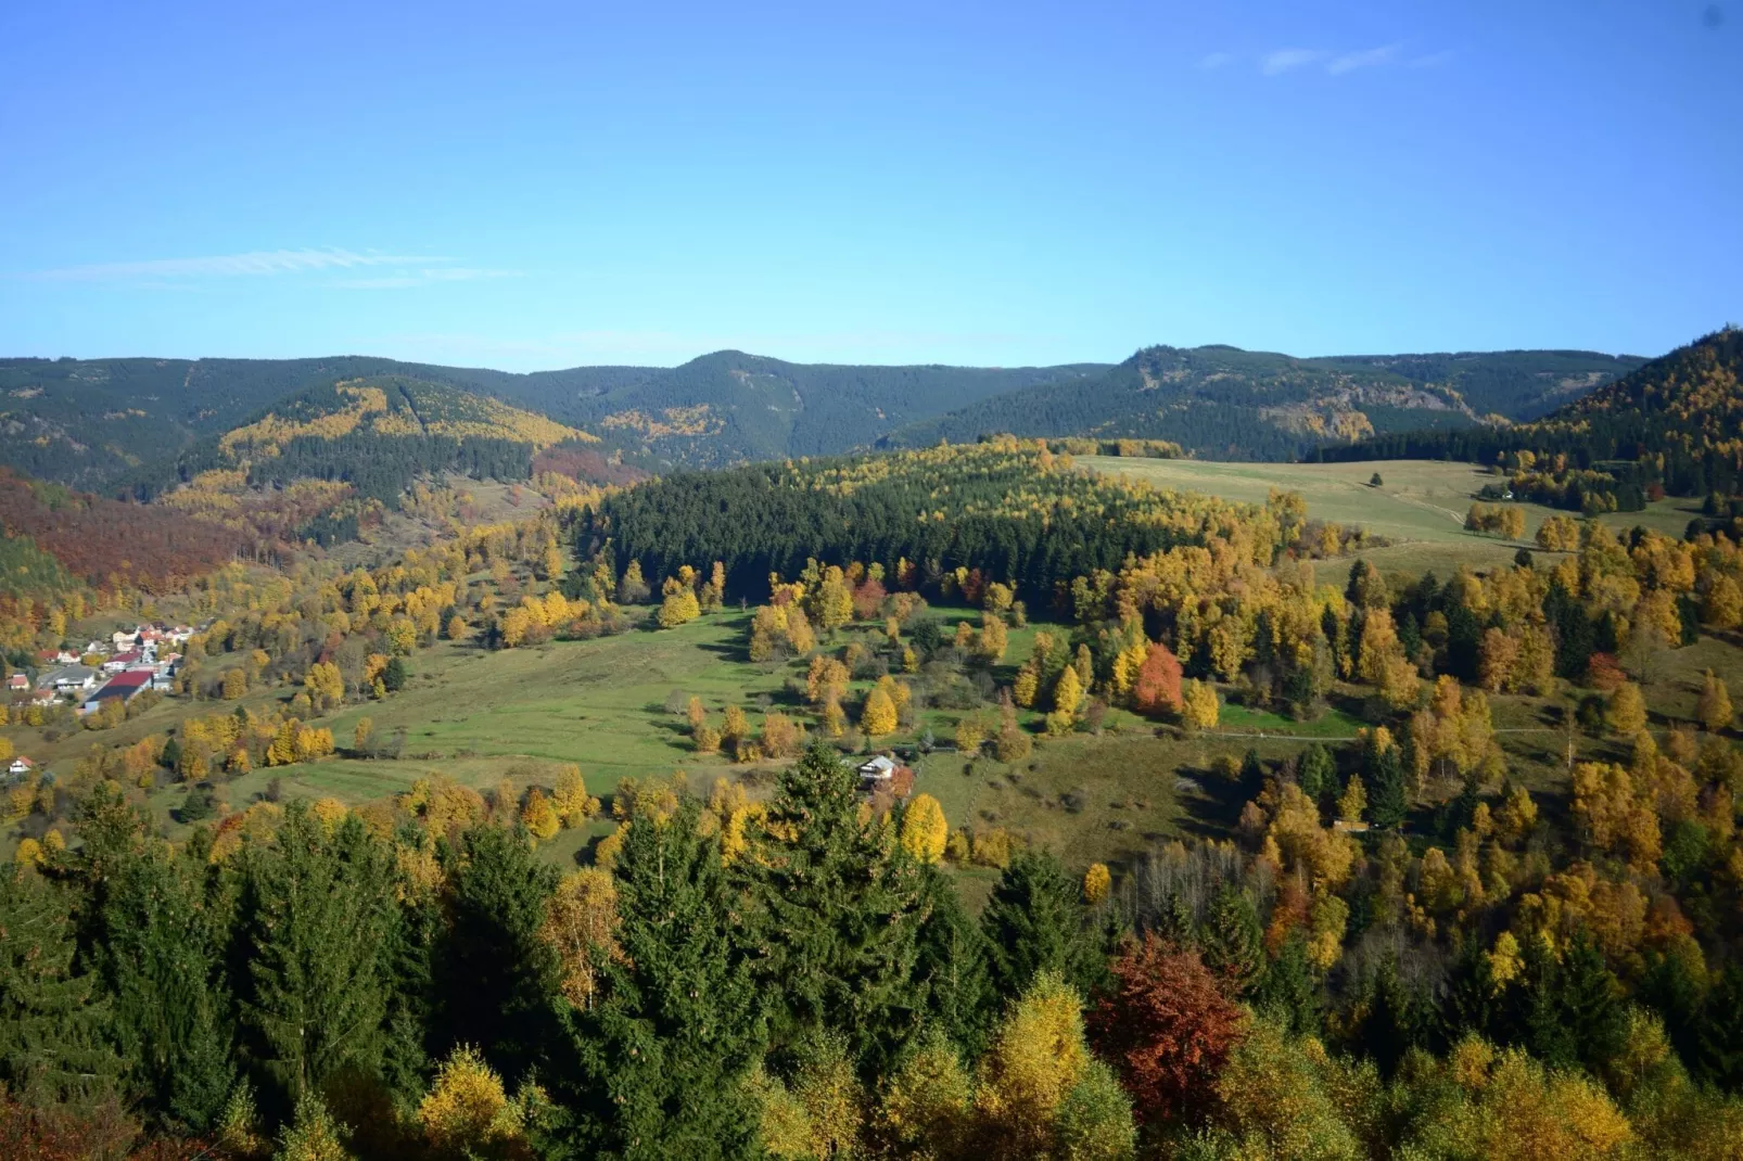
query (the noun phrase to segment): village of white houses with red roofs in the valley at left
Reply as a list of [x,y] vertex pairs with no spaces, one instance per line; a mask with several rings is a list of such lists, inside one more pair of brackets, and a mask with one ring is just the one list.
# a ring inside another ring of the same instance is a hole
[[[99,713],[106,703],[127,706],[146,690],[174,690],[181,664],[180,645],[193,635],[193,626],[139,624],[117,629],[108,640],[87,642],[82,650],[49,648],[37,654],[31,671],[5,678],[5,692],[14,718],[28,720],[71,708],[84,718]],[[38,771],[30,755],[14,755],[5,767],[5,781],[16,783]]]

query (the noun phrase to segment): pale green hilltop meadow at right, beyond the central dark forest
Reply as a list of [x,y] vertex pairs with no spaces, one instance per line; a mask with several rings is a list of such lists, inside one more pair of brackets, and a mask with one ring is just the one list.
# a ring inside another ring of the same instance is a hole
[[[1272,488],[1300,492],[1307,514],[1340,525],[1361,525],[1394,544],[1365,553],[1382,572],[1433,568],[1445,575],[1459,565],[1483,568],[1513,560],[1518,542],[1464,530],[1476,490],[1494,476],[1471,464],[1386,460],[1373,464],[1218,464],[1208,460],[1143,460],[1093,455],[1079,464],[1100,472],[1136,476],[1159,488],[1204,492],[1227,500],[1262,504]],[[1382,485],[1368,478],[1380,472]],[[1558,509],[1522,504],[1527,535]],[[1682,537],[1698,500],[1659,500],[1644,513],[1616,513],[1618,528],[1645,525]]]

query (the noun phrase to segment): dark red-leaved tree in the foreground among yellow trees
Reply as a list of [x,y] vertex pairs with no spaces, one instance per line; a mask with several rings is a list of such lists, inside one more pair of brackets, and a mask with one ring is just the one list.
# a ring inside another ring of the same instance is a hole
[[1114,961],[1114,988],[1089,1035],[1131,1095],[1140,1123],[1199,1119],[1245,1035],[1241,1009],[1196,950],[1147,934]]

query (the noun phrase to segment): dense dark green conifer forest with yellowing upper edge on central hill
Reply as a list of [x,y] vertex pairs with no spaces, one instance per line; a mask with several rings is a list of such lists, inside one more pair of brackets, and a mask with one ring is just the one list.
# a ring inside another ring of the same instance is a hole
[[924,568],[980,568],[1030,593],[1128,554],[1204,544],[1234,509],[1067,467],[1014,441],[927,448],[866,458],[758,464],[683,472],[608,497],[577,526],[577,549],[640,561],[657,580],[682,565],[722,561],[749,598],[769,574],[797,575],[809,558],[898,560]]

